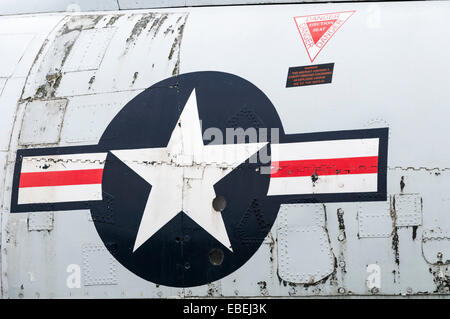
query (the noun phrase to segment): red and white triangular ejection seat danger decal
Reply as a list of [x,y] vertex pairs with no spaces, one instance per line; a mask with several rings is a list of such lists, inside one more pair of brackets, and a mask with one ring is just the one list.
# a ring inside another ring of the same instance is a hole
[[355,11],[295,17],[298,31],[311,62],[317,57],[325,44]]

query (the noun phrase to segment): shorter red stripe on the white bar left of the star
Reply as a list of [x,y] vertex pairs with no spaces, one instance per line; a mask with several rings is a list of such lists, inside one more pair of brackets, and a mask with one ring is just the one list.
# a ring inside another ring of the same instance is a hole
[[101,184],[102,177],[103,169],[22,173],[19,188]]

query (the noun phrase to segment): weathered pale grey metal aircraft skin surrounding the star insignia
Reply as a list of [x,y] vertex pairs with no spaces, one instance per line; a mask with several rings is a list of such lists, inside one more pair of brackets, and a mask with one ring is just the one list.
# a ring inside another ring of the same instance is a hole
[[[314,62],[335,63],[333,82],[286,88],[288,68],[310,64],[293,16],[347,10]],[[415,2],[0,17],[1,296],[448,297],[449,14],[449,3]],[[282,205],[246,264],[192,288],[117,263],[89,210],[10,213],[18,149],[98,143],[143,90],[205,70],[254,83],[288,133],[389,127],[387,200]]]

